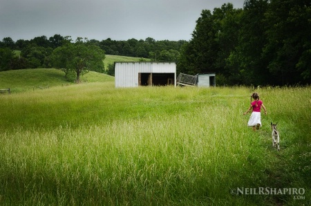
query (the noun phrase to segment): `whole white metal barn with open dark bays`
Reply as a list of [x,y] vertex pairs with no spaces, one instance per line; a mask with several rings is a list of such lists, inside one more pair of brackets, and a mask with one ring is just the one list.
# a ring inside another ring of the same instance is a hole
[[176,86],[175,62],[115,62],[115,87]]

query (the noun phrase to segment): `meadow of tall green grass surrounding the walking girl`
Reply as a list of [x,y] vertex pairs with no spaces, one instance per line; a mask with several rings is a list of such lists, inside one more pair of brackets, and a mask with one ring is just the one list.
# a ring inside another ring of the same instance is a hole
[[254,132],[245,86],[115,88],[44,71],[50,82],[0,73],[0,88],[19,82],[0,94],[0,205],[311,205],[310,86],[258,90]]

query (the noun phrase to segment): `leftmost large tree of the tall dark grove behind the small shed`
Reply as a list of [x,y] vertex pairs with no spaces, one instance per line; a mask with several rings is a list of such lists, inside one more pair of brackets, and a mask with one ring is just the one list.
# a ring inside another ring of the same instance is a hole
[[217,76],[236,75],[238,66],[227,67],[227,59],[238,44],[241,12],[232,3],[215,8],[213,13],[202,10],[192,39],[180,48],[178,71],[192,75],[211,72],[218,73]]

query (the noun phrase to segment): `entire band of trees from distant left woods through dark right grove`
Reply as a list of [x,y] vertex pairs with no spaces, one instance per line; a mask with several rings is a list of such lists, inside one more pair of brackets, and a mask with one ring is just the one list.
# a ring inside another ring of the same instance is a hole
[[[243,9],[225,3],[212,12],[202,10],[189,41],[148,37],[73,42],[70,37],[54,35],[15,42],[6,37],[0,41],[0,71],[50,68],[55,49],[83,43],[106,55],[177,62],[178,73],[216,73],[220,85],[310,84],[310,4],[309,0],[246,0]],[[21,50],[20,56],[12,50]],[[98,65],[95,71],[107,72]]]

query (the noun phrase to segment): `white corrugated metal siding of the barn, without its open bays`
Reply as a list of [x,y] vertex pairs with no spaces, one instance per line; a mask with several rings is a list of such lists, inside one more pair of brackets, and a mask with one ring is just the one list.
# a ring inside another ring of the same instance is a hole
[[175,62],[115,62],[115,87],[138,86],[138,73],[175,73]]

